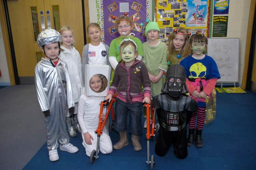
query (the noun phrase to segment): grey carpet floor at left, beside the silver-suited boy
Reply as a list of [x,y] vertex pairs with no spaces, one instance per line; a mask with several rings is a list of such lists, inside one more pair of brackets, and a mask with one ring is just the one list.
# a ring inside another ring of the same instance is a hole
[[34,85],[0,89],[0,170],[21,170],[45,142]]

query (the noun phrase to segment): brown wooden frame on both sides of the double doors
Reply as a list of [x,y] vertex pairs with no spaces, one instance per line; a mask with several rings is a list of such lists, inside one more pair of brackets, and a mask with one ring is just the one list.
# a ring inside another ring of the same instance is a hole
[[[84,6],[82,6],[83,8],[82,13],[83,13],[83,26],[84,26],[84,43],[86,44],[86,25],[90,23],[89,0],[81,0],[81,1],[82,1],[82,5],[84,4]],[[12,51],[11,51],[12,49],[11,46],[13,47],[13,43],[11,39],[12,37],[8,33],[8,25],[10,26],[10,23],[7,23],[7,20],[6,20],[4,3],[7,4],[7,0],[1,0],[0,2],[0,22],[1,22],[1,28],[2,28],[2,35],[4,39],[4,49],[6,53],[10,84],[13,86],[13,85],[19,84],[19,82],[17,82],[17,78],[16,78],[18,77],[18,73],[15,73],[16,75],[14,74],[14,72],[16,72],[14,70],[14,67],[15,67],[14,64],[16,63],[15,61],[13,62],[12,58],[15,59],[15,55],[12,54]]]

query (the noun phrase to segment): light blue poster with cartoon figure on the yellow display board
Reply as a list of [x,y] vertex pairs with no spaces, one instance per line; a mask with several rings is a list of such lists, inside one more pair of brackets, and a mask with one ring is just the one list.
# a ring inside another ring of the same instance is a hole
[[208,0],[187,0],[186,27],[206,27],[208,21]]

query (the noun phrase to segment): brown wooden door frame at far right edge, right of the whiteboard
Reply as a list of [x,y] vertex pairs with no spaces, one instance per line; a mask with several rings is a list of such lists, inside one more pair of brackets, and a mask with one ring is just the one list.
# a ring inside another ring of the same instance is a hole
[[[255,6],[256,6],[256,0],[251,0],[249,16],[250,14],[254,16]],[[254,17],[249,17],[248,19],[246,48],[244,53],[244,70],[243,70],[242,85],[241,85],[242,89],[246,89],[248,66],[249,66],[249,60],[250,60],[250,47],[252,42],[253,20],[254,20]]]

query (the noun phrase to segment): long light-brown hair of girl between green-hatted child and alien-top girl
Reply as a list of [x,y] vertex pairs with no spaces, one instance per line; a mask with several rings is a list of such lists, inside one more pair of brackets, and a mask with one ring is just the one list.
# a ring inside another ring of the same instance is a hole
[[177,32],[183,33],[184,36],[185,36],[185,43],[184,43],[182,49],[180,50],[180,55],[184,56],[184,57],[187,57],[187,56],[191,55],[191,46],[190,46],[190,43],[189,43],[188,29],[183,28],[183,27],[177,27],[176,28],[176,32],[173,31],[169,35],[169,37],[168,37],[168,40],[169,40],[169,53],[172,54],[174,51],[176,51],[175,47],[173,45],[172,40],[175,38]]

